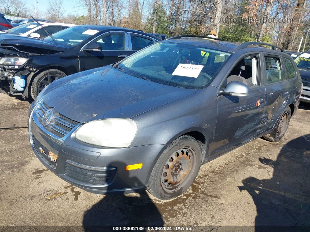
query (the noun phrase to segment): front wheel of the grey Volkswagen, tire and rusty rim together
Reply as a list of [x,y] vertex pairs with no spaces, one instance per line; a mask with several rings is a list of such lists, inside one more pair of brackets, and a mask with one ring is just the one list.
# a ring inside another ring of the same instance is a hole
[[152,170],[148,180],[148,192],[162,200],[169,200],[184,193],[197,177],[204,147],[202,142],[189,135],[173,141],[159,156]]

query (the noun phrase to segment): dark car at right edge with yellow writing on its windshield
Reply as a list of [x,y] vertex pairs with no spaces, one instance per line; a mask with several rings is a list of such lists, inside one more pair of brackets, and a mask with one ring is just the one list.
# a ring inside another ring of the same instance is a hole
[[310,103],[310,51],[301,53],[296,57],[295,63],[303,81],[300,101]]

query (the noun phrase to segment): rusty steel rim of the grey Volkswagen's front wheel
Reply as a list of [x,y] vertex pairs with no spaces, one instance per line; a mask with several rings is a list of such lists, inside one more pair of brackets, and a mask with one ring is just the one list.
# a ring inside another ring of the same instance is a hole
[[195,169],[196,154],[190,147],[181,148],[172,153],[162,170],[162,187],[174,192],[188,182]]

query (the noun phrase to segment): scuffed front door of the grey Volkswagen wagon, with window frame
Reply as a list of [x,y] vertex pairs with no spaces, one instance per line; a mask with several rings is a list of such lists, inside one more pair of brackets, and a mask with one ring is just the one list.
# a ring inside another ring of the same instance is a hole
[[228,75],[227,83],[247,84],[250,94],[243,97],[217,97],[217,122],[210,158],[229,151],[257,136],[265,107],[266,90],[261,80],[259,55],[242,58]]

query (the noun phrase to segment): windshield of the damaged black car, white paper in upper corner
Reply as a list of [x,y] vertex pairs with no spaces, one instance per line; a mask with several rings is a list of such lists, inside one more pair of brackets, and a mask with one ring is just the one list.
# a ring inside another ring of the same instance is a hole
[[[98,32],[99,31],[97,30],[75,26],[54,33],[53,37],[55,37],[57,43],[59,44],[74,46]],[[51,36],[45,37],[44,40],[48,42],[53,42]]]

